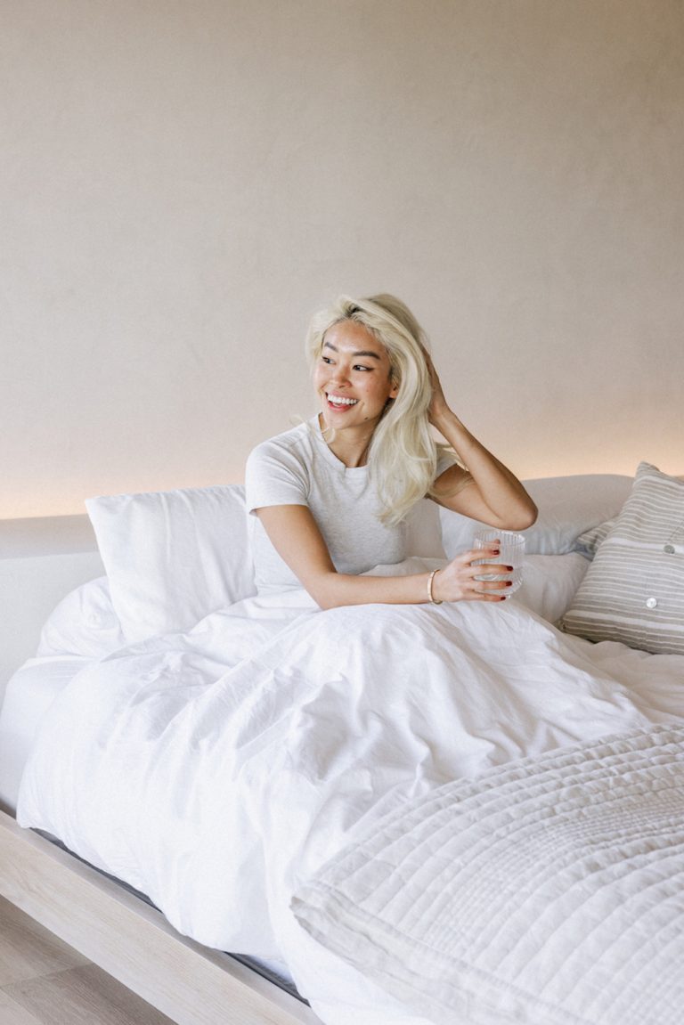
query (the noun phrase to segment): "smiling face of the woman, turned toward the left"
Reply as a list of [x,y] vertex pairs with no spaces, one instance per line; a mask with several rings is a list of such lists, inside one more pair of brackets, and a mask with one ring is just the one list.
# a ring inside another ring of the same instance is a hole
[[399,386],[391,380],[385,345],[362,324],[345,320],[325,332],[314,368],[326,426],[374,427]]

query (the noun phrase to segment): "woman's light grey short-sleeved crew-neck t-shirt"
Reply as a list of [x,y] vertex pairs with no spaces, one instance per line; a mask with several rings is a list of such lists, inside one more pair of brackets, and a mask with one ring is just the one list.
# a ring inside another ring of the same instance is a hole
[[[450,462],[448,456],[440,459],[438,474]],[[346,466],[326,445],[318,416],[256,446],[247,460],[245,493],[250,514],[269,505],[308,506],[338,573],[364,573],[380,564],[400,563],[408,556],[443,556],[434,503],[416,503],[396,527],[380,523],[377,492],[369,480],[368,466]],[[252,515],[249,519],[257,589],[299,586],[258,518]],[[421,536],[413,543],[418,527]],[[426,533],[434,536],[426,538]]]

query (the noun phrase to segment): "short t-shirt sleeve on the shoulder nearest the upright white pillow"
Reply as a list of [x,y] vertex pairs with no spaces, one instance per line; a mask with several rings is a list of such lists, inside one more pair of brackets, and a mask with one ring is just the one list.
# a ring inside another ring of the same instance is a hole
[[245,466],[247,511],[268,505],[308,505],[309,480],[295,452],[276,441],[264,442]]

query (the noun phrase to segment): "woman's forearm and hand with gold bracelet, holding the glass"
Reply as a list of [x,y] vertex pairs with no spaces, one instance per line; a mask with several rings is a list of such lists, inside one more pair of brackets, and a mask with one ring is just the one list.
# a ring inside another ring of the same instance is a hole
[[[341,605],[417,605],[430,602],[430,573],[396,577],[337,573],[323,535],[306,505],[269,505],[255,509],[255,514],[278,555],[322,609]],[[497,555],[497,547],[491,545],[489,549],[473,549],[456,556],[433,576],[433,599],[437,602],[502,601],[510,582],[476,580],[482,568],[471,566],[476,559]],[[490,565],[487,572],[500,574],[511,569],[511,566]]]

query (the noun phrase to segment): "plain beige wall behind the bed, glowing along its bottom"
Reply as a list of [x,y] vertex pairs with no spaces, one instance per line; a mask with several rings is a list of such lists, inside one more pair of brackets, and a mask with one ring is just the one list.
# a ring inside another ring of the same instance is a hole
[[391,290],[521,476],[684,471],[679,0],[0,0],[0,516],[239,481]]

